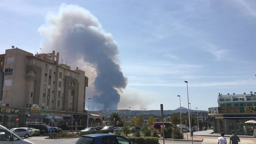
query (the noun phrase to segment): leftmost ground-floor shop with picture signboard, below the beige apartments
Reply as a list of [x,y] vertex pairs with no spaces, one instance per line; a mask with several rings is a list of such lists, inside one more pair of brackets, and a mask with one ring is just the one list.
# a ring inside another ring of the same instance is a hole
[[0,107],[0,124],[3,126],[13,126],[16,124],[16,118],[20,117],[19,108]]

